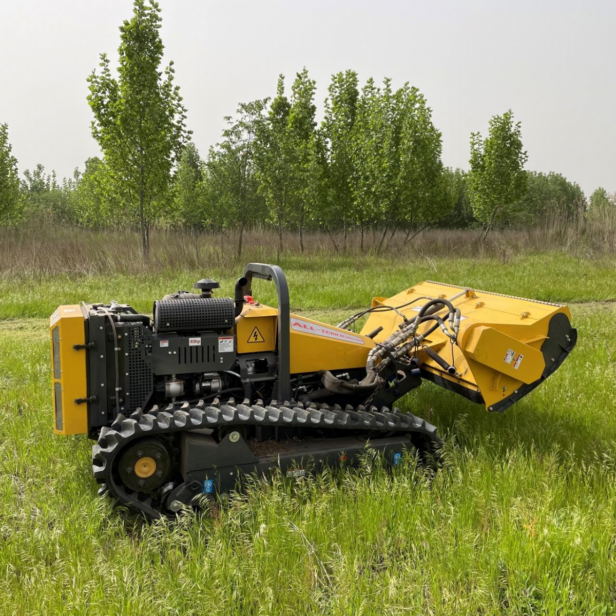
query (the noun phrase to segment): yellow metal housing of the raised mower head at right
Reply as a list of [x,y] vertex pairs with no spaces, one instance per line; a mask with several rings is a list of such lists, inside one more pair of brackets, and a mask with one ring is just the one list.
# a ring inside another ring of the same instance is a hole
[[[533,383],[541,377],[545,361],[540,349],[548,336],[549,321],[559,312],[571,318],[569,309],[559,304],[465,290],[463,287],[429,281],[391,298],[375,298],[372,307],[394,306],[412,320],[419,308],[432,298],[447,298],[461,310],[458,345],[452,346],[440,329],[424,340],[426,347],[455,365],[458,373],[448,375],[423,351],[419,351],[421,368],[461,387],[480,392],[486,408],[516,392],[522,384]],[[438,314],[447,320],[446,313],[444,309]],[[361,333],[369,333],[381,325],[383,331],[375,336],[375,341],[381,342],[397,331],[402,322],[402,317],[393,310],[373,312]],[[428,322],[420,326],[419,333],[431,324]],[[516,361],[517,369],[514,367]]]

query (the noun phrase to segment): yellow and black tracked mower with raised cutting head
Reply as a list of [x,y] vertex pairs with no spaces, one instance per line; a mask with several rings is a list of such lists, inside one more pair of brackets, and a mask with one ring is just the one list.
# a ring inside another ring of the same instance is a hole
[[[277,309],[253,298],[254,278],[275,282]],[[51,317],[55,432],[96,440],[99,492],[152,518],[243,474],[354,466],[366,447],[432,460],[436,429],[396,400],[428,379],[503,411],[577,339],[566,306],[430,281],[336,326],[290,314],[277,265],[247,265],[234,298],[195,288],[155,301],[153,318],[115,301]]]

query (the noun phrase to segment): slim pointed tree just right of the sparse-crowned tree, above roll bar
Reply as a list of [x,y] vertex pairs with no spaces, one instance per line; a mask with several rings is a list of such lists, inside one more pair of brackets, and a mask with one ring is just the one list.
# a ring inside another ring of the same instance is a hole
[[259,192],[265,199],[268,220],[278,231],[278,261],[282,251],[282,233],[290,216],[293,188],[293,163],[287,134],[290,108],[289,99],[285,96],[285,77],[280,75],[267,119],[257,133],[256,147]]

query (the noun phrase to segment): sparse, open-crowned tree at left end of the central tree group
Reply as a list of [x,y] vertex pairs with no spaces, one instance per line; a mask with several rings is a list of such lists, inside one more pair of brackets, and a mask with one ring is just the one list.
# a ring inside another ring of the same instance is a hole
[[212,148],[208,157],[209,179],[227,203],[227,219],[238,230],[237,258],[241,258],[243,234],[247,224],[260,220],[263,198],[261,179],[255,169],[257,135],[262,132],[269,99],[240,103],[237,119],[227,116],[224,140]]

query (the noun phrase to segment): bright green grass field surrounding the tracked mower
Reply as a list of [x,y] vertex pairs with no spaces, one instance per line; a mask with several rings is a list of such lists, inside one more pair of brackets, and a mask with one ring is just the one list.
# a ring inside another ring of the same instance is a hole
[[[216,272],[2,282],[0,613],[616,614],[614,264],[282,265],[293,306],[329,322],[425,278],[585,302],[572,306],[578,346],[503,415],[429,383],[404,399],[445,438],[434,480],[411,460],[389,474],[367,459],[143,524],[96,495],[85,437],[52,435],[47,317],[81,299],[149,310]],[[229,292],[233,277],[221,282]]]

